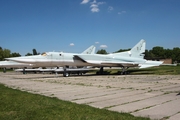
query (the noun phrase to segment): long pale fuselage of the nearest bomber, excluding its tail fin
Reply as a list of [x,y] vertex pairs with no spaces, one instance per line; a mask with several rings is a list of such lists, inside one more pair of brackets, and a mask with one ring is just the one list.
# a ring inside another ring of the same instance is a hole
[[[80,56],[80,57],[79,57]],[[87,61],[86,61],[87,60]],[[34,64],[36,66],[46,67],[61,67],[61,66],[107,66],[121,67],[138,66],[139,63],[144,63],[142,58],[117,56],[114,54],[99,55],[99,54],[73,54],[63,52],[48,52],[41,55],[25,56],[13,58],[13,61],[21,63]],[[118,64],[121,62],[121,65]],[[111,64],[113,63],[113,64]],[[116,64],[117,63],[117,64]],[[124,64],[123,64],[124,63]]]

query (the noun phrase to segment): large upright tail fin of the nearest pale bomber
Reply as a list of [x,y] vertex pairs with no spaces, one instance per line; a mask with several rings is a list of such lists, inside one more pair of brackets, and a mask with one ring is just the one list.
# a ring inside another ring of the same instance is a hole
[[144,53],[146,48],[146,41],[140,40],[129,52],[132,57],[144,57]]

